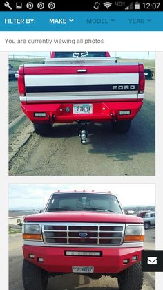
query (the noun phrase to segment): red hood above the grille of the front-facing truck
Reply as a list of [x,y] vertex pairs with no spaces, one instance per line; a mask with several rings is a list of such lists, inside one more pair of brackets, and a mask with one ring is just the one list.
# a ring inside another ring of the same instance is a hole
[[141,217],[111,212],[44,212],[28,215],[25,222],[97,222],[97,223],[143,223]]

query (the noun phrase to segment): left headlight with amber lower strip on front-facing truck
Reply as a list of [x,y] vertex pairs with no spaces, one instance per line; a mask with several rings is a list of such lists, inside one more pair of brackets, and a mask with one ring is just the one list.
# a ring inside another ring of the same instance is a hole
[[42,240],[40,224],[23,224],[22,227],[23,239]]

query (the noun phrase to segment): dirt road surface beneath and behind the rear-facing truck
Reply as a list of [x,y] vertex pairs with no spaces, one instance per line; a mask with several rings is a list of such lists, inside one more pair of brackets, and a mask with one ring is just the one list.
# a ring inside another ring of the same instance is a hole
[[[18,100],[12,96],[10,104],[12,102]],[[9,111],[11,119],[14,118],[11,105]],[[18,110],[15,114],[17,116]],[[10,138],[9,154],[15,150],[17,154],[10,161],[9,174],[155,175],[155,80],[146,80],[144,105],[133,119],[128,134],[114,134],[111,123],[90,123],[88,143],[81,145],[78,129],[76,123],[55,125],[50,136],[41,137],[33,132],[32,124],[26,120]],[[29,138],[21,145],[24,134]],[[20,145],[15,149],[19,141]]]

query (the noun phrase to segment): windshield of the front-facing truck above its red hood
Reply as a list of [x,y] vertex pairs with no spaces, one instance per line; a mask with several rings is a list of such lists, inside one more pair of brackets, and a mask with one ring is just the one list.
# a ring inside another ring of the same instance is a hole
[[114,195],[70,192],[52,195],[46,212],[55,211],[101,211],[122,213]]

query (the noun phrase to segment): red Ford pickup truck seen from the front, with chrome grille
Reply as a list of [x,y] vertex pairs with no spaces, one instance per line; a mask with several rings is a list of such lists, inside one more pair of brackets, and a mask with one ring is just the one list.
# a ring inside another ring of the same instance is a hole
[[76,273],[141,290],[143,241],[142,218],[124,215],[114,194],[56,192],[44,211],[24,219],[23,287],[46,290],[51,276]]

